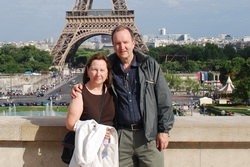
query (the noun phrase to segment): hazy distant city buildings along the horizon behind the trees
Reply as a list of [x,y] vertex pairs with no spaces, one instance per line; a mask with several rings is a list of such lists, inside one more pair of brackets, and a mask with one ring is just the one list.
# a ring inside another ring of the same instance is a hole
[[[167,45],[195,45],[205,46],[207,43],[213,43],[219,47],[225,47],[230,44],[236,49],[242,49],[250,46],[250,36],[245,36],[242,39],[234,38],[230,34],[219,34],[218,37],[201,37],[194,39],[190,34],[169,34],[167,28],[159,28],[156,34],[144,34],[143,41],[148,47],[160,47]],[[29,42],[0,42],[2,46],[16,46],[24,47],[33,45],[41,50],[51,51],[55,45],[53,38],[47,38],[43,41],[29,41]],[[109,49],[113,51],[112,40],[110,35],[100,35],[88,39],[83,42],[80,48],[88,49]]]

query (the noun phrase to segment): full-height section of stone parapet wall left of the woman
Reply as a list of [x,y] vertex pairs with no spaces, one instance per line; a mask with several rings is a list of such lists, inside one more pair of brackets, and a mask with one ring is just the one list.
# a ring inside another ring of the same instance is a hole
[[[66,167],[60,159],[67,132],[62,117],[0,117],[0,164]],[[1,166],[0,165],[0,166]]]

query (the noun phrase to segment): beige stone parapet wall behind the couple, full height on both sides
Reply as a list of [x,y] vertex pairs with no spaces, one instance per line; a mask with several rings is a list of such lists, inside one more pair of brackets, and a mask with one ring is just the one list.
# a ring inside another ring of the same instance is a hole
[[[66,167],[64,117],[1,117],[0,164]],[[176,117],[165,167],[248,167],[250,117]]]

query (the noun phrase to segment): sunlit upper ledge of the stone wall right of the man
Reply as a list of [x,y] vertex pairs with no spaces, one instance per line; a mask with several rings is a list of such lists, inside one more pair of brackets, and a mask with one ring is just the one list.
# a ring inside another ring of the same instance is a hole
[[171,141],[250,142],[250,117],[176,117]]

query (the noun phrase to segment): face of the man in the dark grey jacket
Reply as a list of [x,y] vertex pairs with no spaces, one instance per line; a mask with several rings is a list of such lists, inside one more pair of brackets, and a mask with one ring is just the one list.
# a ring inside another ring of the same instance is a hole
[[132,61],[135,40],[132,40],[132,37],[128,30],[120,30],[114,34],[113,46],[116,54],[119,56],[121,61]]

